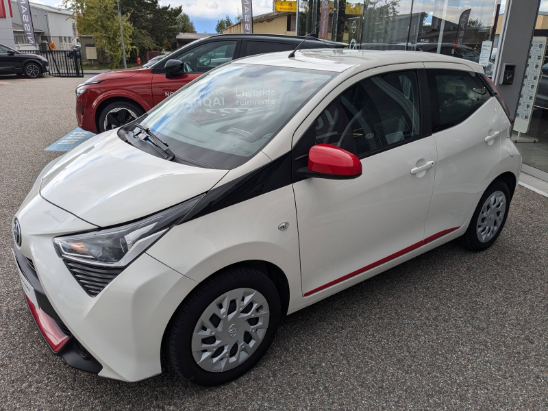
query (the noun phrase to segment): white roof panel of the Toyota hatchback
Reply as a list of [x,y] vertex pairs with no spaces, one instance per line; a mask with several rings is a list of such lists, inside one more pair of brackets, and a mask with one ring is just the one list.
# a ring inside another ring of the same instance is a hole
[[[295,58],[288,58],[287,51],[251,55],[234,62],[247,64],[262,64],[265,66],[280,66],[296,69],[334,71],[342,73],[351,67],[360,66],[362,70],[373,69],[388,64],[403,63],[447,63],[456,66],[467,66],[471,71],[483,73],[483,68],[477,63],[451,57],[449,55],[424,53],[421,51],[401,50],[351,50],[351,49],[303,49],[295,53]],[[456,67],[457,69],[458,67]]]

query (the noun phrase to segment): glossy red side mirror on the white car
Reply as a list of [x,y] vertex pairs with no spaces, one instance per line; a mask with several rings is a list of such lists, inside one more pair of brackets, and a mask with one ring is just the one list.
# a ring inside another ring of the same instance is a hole
[[308,152],[308,171],[318,173],[310,177],[351,179],[362,175],[362,163],[349,151],[334,145],[319,144]]

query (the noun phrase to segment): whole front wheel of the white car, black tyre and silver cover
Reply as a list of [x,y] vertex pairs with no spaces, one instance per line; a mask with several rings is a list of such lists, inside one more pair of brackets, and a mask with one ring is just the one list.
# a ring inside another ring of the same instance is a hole
[[226,269],[199,284],[179,306],[167,340],[171,365],[197,385],[229,382],[266,353],[281,316],[269,277],[246,267]]

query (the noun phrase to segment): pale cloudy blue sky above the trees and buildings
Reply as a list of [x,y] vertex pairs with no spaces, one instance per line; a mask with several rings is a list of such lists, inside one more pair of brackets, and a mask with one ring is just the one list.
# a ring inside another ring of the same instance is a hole
[[[60,0],[31,0],[36,3],[60,7]],[[439,0],[438,0],[439,1]],[[464,3],[477,3],[477,0],[462,0]],[[461,3],[462,3],[461,1]],[[519,0],[523,1],[523,0]],[[198,33],[214,33],[215,25],[220,18],[228,15],[234,21],[238,10],[242,9],[241,0],[160,0],[162,5],[182,5],[183,11],[190,16]],[[253,0],[253,16],[272,11],[273,0]],[[400,0],[400,5],[410,3],[410,0]],[[502,0],[501,12],[506,0]],[[548,11],[548,0],[540,1],[540,11]]]

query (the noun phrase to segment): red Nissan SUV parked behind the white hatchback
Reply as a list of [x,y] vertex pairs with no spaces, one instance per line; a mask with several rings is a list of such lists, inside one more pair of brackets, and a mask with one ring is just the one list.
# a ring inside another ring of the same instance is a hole
[[[76,89],[78,125],[94,133],[120,127],[216,66],[247,55],[290,51],[303,40],[275,34],[221,34],[192,42],[151,66],[96,75]],[[347,44],[310,37],[301,49],[344,47]]]

